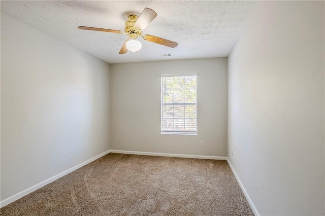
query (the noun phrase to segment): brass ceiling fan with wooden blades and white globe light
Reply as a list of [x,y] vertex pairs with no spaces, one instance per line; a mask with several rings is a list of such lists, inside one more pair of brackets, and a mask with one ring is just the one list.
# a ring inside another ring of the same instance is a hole
[[128,19],[125,21],[125,32],[121,30],[113,30],[113,29],[106,29],[106,28],[94,28],[94,27],[87,27],[87,26],[79,26],[78,28],[84,30],[93,30],[93,31],[106,31],[112,33],[119,33],[119,34],[127,34],[129,39],[127,39],[119,54],[125,54],[127,51],[137,52],[141,49],[141,42],[137,40],[140,36],[146,41],[150,41],[156,44],[164,45],[167,47],[177,47],[177,43],[173,41],[169,41],[163,38],[159,38],[153,36],[151,34],[142,35],[142,30],[147,27],[147,25],[156,18],[157,14],[150,8],[145,8],[140,16],[137,15],[129,15]]

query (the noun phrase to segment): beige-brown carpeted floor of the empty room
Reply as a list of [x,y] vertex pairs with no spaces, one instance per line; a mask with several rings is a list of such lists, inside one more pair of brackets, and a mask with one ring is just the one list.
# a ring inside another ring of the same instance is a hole
[[1,215],[254,215],[228,163],[110,153]]

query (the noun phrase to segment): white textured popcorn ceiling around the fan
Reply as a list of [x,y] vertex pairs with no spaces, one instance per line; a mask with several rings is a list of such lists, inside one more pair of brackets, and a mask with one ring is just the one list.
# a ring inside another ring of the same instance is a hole
[[[250,1],[1,1],[1,11],[108,63],[120,63],[226,57],[252,5]],[[127,35],[77,28],[124,30],[127,16],[140,15],[146,7],[158,16],[143,34],[175,41],[178,47],[139,38],[140,51],[119,55]]]

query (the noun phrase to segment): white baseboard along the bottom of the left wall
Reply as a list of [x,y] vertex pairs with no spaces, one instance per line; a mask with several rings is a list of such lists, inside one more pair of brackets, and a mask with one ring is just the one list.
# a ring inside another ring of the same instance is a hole
[[93,158],[91,158],[89,160],[86,160],[85,162],[82,162],[82,163],[80,163],[80,164],[78,164],[78,165],[76,165],[76,166],[74,166],[74,167],[72,167],[70,169],[67,169],[66,171],[63,171],[63,172],[61,172],[61,173],[59,173],[57,175],[54,175],[53,177],[50,177],[50,178],[46,179],[45,181],[43,181],[43,182],[41,182],[41,183],[39,183],[39,184],[37,184],[35,186],[27,188],[26,190],[23,190],[23,191],[15,194],[15,195],[13,195],[11,197],[8,197],[8,198],[6,198],[4,200],[1,200],[0,201],[0,207],[4,207],[4,206],[6,206],[6,205],[20,199],[23,196],[26,196],[27,194],[29,194],[29,193],[31,193],[33,191],[36,191],[37,189],[40,189],[40,188],[44,187],[45,185],[47,185],[47,184],[49,184],[51,182],[54,182],[56,179],[66,175],[66,174],[68,174],[70,172],[73,172],[76,169],[79,169],[80,167],[82,167],[82,166],[84,166],[84,165],[86,165],[86,164],[88,164],[88,163],[90,163],[90,162],[92,162],[94,160],[97,160],[97,159],[103,157],[104,155],[107,155],[108,153],[110,153],[110,150],[106,151],[106,152],[104,152],[102,154],[99,154],[99,155],[97,155],[97,156],[95,156],[95,157],[93,157]]

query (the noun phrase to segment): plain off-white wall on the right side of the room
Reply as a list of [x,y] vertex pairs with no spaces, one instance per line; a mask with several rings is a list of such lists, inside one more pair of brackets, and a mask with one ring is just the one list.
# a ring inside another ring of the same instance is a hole
[[324,2],[257,3],[229,56],[228,131],[260,214],[325,213]]

